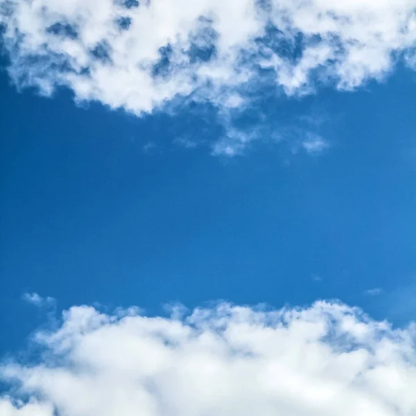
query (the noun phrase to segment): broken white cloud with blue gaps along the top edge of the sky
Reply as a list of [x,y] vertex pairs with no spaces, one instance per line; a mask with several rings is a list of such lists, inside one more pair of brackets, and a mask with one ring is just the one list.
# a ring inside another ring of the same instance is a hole
[[[65,85],[79,101],[135,114],[180,97],[224,114],[263,87],[352,89],[385,78],[401,56],[415,67],[415,7],[416,0],[0,0],[0,23],[20,87],[51,94]],[[236,144],[219,148],[245,146]]]

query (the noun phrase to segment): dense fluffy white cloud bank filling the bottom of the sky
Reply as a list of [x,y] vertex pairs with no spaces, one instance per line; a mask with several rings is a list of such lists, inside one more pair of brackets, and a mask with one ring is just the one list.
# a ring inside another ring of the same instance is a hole
[[2,416],[416,413],[415,327],[344,304],[220,304],[146,317],[73,307],[31,365],[7,363]]

